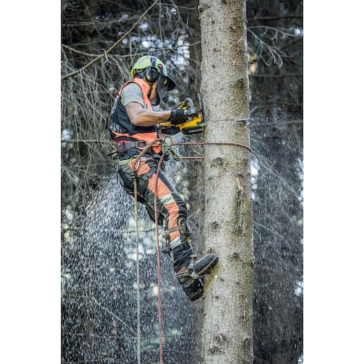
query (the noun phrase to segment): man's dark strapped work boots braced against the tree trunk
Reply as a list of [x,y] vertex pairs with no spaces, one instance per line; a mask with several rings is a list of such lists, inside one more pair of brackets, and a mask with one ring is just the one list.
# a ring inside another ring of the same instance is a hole
[[190,263],[183,266],[177,272],[177,278],[182,284],[183,291],[194,301],[203,295],[203,280],[218,262],[218,256],[210,253],[197,259],[197,255],[191,255]]

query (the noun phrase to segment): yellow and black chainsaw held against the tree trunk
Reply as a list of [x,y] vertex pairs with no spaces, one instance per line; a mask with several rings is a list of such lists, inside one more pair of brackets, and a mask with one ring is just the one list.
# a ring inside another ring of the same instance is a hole
[[185,101],[177,104],[176,109],[185,110],[185,115],[188,116],[187,122],[182,124],[172,125],[170,122],[163,122],[158,124],[159,131],[163,134],[174,135],[179,132],[184,135],[192,135],[203,133],[205,124],[203,124],[204,110],[201,94],[198,93],[198,103],[200,104],[200,111],[194,106],[194,102],[190,98],[186,98]]

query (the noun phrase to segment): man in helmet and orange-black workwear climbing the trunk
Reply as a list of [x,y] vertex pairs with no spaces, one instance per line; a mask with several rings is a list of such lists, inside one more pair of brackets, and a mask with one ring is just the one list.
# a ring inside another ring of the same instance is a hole
[[[194,301],[203,295],[204,277],[216,265],[218,256],[210,253],[198,259],[194,254],[186,224],[185,201],[163,172],[163,163],[157,174],[162,147],[154,144],[161,137],[157,124],[166,121],[172,125],[181,124],[187,121],[187,115],[177,105],[167,111],[153,110],[152,106],[159,105],[164,93],[176,87],[176,82],[167,75],[166,66],[161,60],[155,56],[141,57],[130,74],[133,80],[126,82],[117,94],[109,125],[111,138],[117,146],[117,177],[131,196],[134,196],[134,181],[137,180],[137,199],[144,204],[153,221],[157,183],[158,224],[164,227],[166,251],[183,291]],[[135,166],[133,161],[144,148],[146,152],[139,157]]]

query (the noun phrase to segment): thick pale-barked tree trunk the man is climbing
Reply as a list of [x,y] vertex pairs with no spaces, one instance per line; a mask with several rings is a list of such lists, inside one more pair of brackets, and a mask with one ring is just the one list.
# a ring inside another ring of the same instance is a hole
[[[249,146],[245,0],[200,1],[201,94],[207,143]],[[253,207],[248,148],[205,146],[206,251],[219,264],[205,282],[204,363],[253,363]]]

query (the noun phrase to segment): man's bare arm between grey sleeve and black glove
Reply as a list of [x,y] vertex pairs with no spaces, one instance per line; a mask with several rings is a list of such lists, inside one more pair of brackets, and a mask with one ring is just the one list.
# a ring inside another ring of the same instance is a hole
[[170,110],[152,111],[144,109],[139,102],[129,102],[125,109],[131,124],[135,126],[152,126],[166,122],[170,117]]

